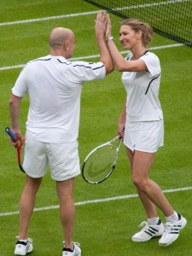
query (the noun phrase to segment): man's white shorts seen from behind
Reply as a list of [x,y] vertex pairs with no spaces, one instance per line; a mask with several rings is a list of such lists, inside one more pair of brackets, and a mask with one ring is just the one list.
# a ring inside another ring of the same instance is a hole
[[56,181],[76,177],[79,168],[79,143],[41,143],[26,138],[23,167],[30,177],[43,177],[49,166]]

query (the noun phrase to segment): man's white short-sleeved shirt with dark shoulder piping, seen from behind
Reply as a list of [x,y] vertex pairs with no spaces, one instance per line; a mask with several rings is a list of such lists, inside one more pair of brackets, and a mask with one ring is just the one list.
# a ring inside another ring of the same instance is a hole
[[82,85],[105,75],[102,62],[67,61],[52,55],[29,61],[12,89],[19,97],[29,93],[26,136],[44,143],[75,141]]

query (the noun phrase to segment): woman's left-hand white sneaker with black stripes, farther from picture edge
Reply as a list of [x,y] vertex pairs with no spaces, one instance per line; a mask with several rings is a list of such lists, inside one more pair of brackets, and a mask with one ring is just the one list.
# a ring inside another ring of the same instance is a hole
[[165,230],[164,225],[162,224],[161,220],[159,221],[158,224],[148,224],[147,221],[143,221],[139,225],[143,226],[143,230],[137,232],[134,236],[132,236],[132,241],[148,241],[154,236],[161,236]]

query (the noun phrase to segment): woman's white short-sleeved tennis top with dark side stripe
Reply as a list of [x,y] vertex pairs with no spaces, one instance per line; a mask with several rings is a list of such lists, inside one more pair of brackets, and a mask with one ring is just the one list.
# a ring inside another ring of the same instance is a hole
[[[126,56],[131,61],[132,53]],[[126,119],[130,121],[154,121],[163,119],[160,106],[160,61],[157,55],[147,51],[140,57],[148,72],[124,72],[122,82],[127,92]]]

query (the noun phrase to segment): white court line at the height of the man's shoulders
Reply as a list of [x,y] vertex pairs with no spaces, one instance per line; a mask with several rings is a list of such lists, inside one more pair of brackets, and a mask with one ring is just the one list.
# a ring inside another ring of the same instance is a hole
[[[155,50],[155,49],[168,49],[172,47],[179,47],[183,46],[184,44],[168,44],[168,45],[161,45],[161,46],[156,46],[156,47],[151,47],[149,48],[150,50]],[[127,54],[129,51],[121,51],[121,54]],[[88,60],[88,59],[94,59],[98,58],[100,55],[88,55],[88,56],[82,56],[82,57],[77,57],[77,58],[71,58],[70,61],[79,61],[79,60]],[[8,69],[15,69],[15,68],[22,68],[26,64],[20,64],[20,65],[15,65],[15,66],[8,66],[8,67],[0,67],[0,71],[3,70],[8,70]]]

